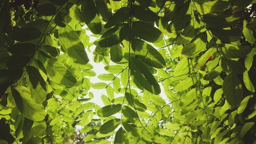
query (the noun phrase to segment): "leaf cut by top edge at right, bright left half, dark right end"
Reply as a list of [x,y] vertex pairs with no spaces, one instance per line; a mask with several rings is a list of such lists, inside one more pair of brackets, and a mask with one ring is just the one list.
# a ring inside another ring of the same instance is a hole
[[214,13],[214,12],[224,12],[230,5],[227,1],[222,0],[195,0],[195,6],[200,12],[200,14]]

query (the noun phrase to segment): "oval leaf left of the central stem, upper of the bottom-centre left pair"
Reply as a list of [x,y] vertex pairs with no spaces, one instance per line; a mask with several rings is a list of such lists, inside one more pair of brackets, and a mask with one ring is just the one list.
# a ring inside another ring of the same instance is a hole
[[98,116],[106,118],[106,117],[112,116],[113,114],[116,114],[121,109],[122,109],[121,104],[112,104],[112,105],[108,105],[108,106],[104,106],[104,107],[100,108],[100,110],[98,110],[97,114],[98,114]]

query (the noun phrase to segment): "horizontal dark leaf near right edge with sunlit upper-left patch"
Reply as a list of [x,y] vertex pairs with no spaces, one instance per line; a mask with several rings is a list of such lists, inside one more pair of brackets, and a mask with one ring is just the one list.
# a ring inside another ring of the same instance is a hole
[[218,44],[220,52],[228,58],[242,58],[246,56],[252,49],[250,46],[234,45],[234,44]]

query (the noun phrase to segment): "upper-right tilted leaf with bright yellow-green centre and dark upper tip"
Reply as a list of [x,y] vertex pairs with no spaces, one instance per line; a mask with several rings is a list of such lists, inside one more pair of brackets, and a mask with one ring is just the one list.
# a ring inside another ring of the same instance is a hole
[[186,58],[191,58],[198,55],[202,50],[206,49],[207,34],[202,32],[194,38],[190,44],[183,47],[181,54]]

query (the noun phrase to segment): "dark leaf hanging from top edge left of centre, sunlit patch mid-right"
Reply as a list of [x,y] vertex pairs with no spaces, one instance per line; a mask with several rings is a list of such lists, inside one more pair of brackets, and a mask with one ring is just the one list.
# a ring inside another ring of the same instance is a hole
[[84,14],[84,21],[93,34],[99,34],[102,30],[100,16],[93,0],[83,0],[81,12]]

